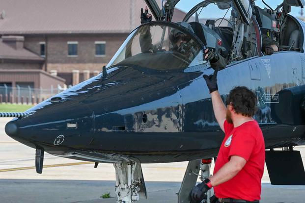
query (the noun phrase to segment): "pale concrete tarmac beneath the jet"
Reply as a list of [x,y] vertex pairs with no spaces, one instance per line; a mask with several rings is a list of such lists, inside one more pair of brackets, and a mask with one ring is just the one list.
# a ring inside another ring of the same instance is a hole
[[[35,171],[35,149],[8,137],[8,118],[0,118],[0,203],[115,203],[112,164],[78,161],[45,154],[42,174]],[[301,151],[305,165],[305,146]],[[187,162],[142,164],[147,200],[139,203],[177,203]],[[213,166],[212,166],[213,170]],[[110,192],[111,198],[101,196]],[[304,203],[305,186],[271,185],[265,169],[261,203]]]

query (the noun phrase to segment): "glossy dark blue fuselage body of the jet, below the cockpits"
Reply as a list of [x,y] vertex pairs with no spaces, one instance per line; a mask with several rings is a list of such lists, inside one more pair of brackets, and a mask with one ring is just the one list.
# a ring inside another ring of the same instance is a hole
[[[287,58],[290,60],[288,61]],[[268,61],[270,60],[270,66]],[[300,52],[254,57],[219,72],[223,99],[234,86],[247,86],[259,97],[255,119],[266,148],[305,144],[305,126],[278,123],[264,94],[304,85]],[[267,63],[267,64],[266,64]],[[124,157],[141,163],[174,162],[217,155],[223,132],[216,123],[203,74],[198,66],[181,72],[119,66],[44,101],[15,119],[14,139],[54,155],[115,162]],[[54,97],[54,98],[55,98]],[[64,140],[57,140],[59,135]],[[58,144],[58,145],[57,145]]]

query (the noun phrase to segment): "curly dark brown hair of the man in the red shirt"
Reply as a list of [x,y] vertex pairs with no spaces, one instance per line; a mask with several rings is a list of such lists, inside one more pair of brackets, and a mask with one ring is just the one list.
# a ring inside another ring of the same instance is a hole
[[247,87],[235,87],[226,98],[226,105],[231,104],[237,114],[251,117],[255,114],[257,97]]

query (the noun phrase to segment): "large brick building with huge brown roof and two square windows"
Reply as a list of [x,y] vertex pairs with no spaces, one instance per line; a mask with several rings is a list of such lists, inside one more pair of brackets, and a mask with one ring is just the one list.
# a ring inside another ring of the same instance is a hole
[[[140,24],[141,7],[144,0],[0,0],[2,40],[24,38],[23,49],[37,59],[27,64],[3,62],[0,71],[11,71],[14,77],[18,71],[12,69],[28,74],[36,70],[58,84],[75,85],[97,75],[110,61]],[[185,15],[179,10],[175,13],[176,21]]]

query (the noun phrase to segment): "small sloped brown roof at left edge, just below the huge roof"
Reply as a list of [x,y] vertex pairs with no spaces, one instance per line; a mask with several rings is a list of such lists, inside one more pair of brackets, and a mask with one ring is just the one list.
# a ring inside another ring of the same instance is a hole
[[43,62],[45,59],[24,48],[15,49],[0,38],[0,59]]

